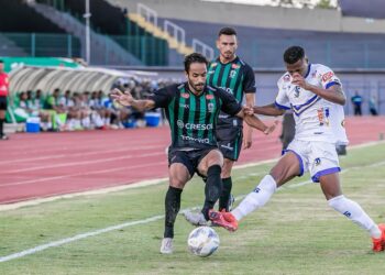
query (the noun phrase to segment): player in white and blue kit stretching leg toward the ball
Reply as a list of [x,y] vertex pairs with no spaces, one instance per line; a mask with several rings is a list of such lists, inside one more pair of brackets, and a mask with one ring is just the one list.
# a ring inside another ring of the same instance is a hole
[[280,116],[292,109],[296,135],[284,155],[256,188],[231,212],[210,213],[213,223],[230,231],[250,212],[263,207],[278,187],[305,172],[319,183],[336,211],[366,230],[373,251],[385,249],[385,224],[376,224],[359,204],[342,194],[340,165],[336,143],[348,143],[343,128],[343,105],[346,101],[340,79],[321,64],[309,64],[304,48],[292,46],[284,53],[287,68],[278,80],[278,95],[273,105],[254,107],[254,113]]

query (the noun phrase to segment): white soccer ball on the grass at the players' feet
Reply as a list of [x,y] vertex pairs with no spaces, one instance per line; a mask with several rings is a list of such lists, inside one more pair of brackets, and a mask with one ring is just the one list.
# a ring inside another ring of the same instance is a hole
[[189,251],[198,256],[207,257],[219,248],[219,235],[209,227],[194,229],[187,240]]

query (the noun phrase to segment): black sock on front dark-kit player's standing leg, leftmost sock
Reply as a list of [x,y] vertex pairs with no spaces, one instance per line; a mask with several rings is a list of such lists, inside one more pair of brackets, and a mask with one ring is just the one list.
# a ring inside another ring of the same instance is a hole
[[183,189],[169,186],[165,199],[165,230],[164,238],[174,238],[174,222],[180,209],[180,194]]

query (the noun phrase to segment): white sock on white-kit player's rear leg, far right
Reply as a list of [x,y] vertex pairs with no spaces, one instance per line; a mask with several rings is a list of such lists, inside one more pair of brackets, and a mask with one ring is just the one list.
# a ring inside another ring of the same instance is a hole
[[365,229],[372,238],[378,239],[381,230],[377,224],[365,213],[359,204],[345,198],[343,195],[329,199],[328,204],[336,211],[344,215],[348,219]]

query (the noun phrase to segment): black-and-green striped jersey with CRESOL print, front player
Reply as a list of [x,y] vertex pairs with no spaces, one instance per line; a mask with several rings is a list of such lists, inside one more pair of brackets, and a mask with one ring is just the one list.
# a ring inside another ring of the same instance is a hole
[[187,82],[172,85],[150,96],[155,108],[164,108],[174,148],[217,147],[215,134],[220,111],[235,116],[242,106],[222,89],[206,86],[196,96]]

